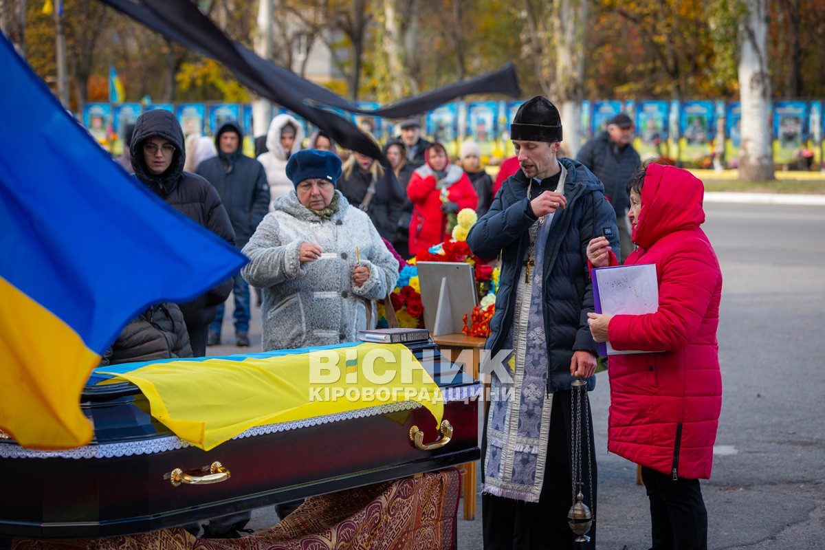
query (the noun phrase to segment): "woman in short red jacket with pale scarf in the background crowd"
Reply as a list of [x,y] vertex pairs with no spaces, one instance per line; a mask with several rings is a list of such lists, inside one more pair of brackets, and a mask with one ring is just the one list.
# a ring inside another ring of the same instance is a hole
[[424,152],[424,160],[424,166],[413,172],[407,184],[407,195],[413,201],[409,233],[412,255],[449,238],[448,214],[475,209],[479,203],[467,174],[449,163],[441,143],[431,143]]

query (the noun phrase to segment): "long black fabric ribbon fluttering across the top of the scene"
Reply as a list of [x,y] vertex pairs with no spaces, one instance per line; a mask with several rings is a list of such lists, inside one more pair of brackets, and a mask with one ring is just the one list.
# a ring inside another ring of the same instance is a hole
[[167,39],[196,50],[223,63],[243,86],[318,126],[342,147],[384,161],[380,149],[349,120],[321,106],[337,107],[362,115],[403,118],[418,115],[456,97],[477,93],[501,93],[519,96],[521,91],[512,63],[493,73],[456,82],[378,110],[358,106],[323,86],[300,78],[287,68],[262,59],[251,49],[230,40],[189,0],[101,0],[135,21],[158,31]]

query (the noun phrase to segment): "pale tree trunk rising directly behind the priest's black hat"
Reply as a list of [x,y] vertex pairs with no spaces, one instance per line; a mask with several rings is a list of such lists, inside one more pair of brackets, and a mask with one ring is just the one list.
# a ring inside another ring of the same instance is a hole
[[554,40],[556,70],[554,92],[562,117],[562,146],[568,157],[576,157],[581,147],[582,100],[584,99],[584,33],[587,28],[587,0],[556,0]]

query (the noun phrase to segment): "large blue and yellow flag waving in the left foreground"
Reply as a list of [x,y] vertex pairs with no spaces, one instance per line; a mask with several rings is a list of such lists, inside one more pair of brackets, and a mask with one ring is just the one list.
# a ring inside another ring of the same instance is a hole
[[0,34],[0,429],[87,444],[79,397],[138,313],[188,301],[247,261],[111,160]]

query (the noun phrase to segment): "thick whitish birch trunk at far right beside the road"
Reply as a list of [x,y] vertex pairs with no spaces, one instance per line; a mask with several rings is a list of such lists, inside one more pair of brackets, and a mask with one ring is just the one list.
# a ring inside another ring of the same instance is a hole
[[771,80],[766,55],[766,0],[747,0],[739,25],[739,97],[742,101],[742,146],[739,180],[775,179],[768,109]]

